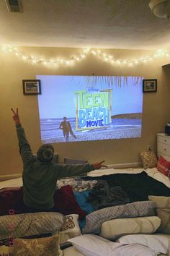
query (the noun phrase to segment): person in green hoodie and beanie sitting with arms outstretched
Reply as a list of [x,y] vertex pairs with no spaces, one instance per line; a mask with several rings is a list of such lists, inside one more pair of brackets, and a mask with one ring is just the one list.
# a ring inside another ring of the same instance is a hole
[[[19,121],[18,108],[13,112],[13,119],[17,128],[19,152],[23,162],[23,201],[24,212],[35,213],[38,211],[55,211],[53,197],[57,179],[68,176],[80,176],[86,172],[99,169],[102,162],[93,164],[66,165],[53,163],[54,148],[44,144],[37,150],[37,155],[32,154],[29,142],[24,133],[24,128]],[[104,166],[107,167],[107,166]]]

